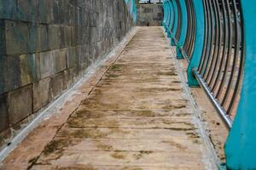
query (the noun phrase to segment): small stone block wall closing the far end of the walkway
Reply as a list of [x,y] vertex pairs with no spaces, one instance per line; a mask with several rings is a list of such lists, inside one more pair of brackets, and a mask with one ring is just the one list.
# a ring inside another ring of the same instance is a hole
[[137,4],[137,26],[161,26],[162,3]]

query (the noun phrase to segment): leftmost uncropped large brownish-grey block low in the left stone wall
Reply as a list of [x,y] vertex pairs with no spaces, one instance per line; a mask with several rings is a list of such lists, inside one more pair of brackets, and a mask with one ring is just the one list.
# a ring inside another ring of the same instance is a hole
[[9,123],[14,125],[32,114],[32,85],[8,94]]

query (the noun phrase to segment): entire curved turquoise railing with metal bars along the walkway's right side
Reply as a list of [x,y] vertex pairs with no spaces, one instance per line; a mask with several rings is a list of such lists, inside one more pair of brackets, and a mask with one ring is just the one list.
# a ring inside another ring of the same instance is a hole
[[226,169],[256,169],[256,2],[166,0],[163,26],[188,83],[201,85],[230,129]]

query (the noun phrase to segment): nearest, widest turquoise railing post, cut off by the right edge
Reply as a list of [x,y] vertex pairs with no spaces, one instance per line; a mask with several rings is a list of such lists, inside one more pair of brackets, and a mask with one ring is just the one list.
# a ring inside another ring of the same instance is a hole
[[224,150],[227,168],[256,169],[256,3],[240,2],[246,43],[244,77],[236,119]]

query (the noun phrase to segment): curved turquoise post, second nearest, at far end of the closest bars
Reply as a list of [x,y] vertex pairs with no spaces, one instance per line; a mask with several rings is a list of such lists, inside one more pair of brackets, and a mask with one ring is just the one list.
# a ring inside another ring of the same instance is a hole
[[193,0],[195,7],[195,48],[190,58],[188,67],[188,83],[190,87],[198,87],[199,84],[193,75],[193,69],[196,69],[201,60],[203,50],[204,32],[205,32],[205,16],[202,0]]

